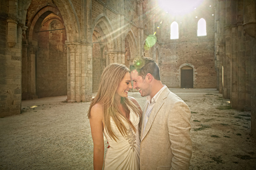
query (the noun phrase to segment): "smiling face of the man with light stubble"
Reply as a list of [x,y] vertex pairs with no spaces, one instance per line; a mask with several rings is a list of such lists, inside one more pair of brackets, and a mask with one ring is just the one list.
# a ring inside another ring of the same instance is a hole
[[137,70],[131,71],[131,79],[134,82],[133,88],[139,90],[140,96],[149,96],[151,94],[151,88],[149,82],[139,76]]

